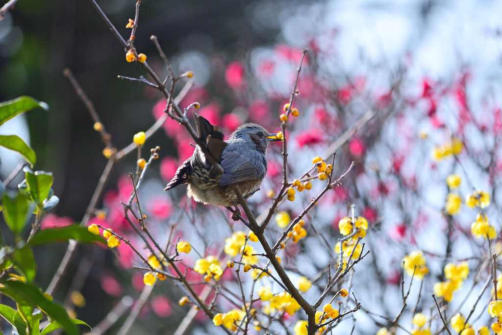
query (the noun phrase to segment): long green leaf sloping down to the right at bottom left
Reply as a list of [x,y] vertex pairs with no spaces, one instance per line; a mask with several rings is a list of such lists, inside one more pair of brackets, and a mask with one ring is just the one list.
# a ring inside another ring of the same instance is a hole
[[71,322],[66,310],[61,305],[47,299],[36,286],[20,281],[5,281],[4,284],[6,286],[0,287],[0,292],[10,296],[14,300],[18,297],[38,306],[52,319],[60,322],[69,335],[78,335],[78,329]]

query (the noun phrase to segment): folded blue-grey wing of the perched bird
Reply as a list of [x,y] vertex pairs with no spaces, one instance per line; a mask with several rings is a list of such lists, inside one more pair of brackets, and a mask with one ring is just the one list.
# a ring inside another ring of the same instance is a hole
[[223,174],[219,180],[220,185],[228,185],[243,181],[259,180],[267,173],[266,162],[260,155],[249,155],[249,159],[242,157],[236,151],[223,153],[221,157]]

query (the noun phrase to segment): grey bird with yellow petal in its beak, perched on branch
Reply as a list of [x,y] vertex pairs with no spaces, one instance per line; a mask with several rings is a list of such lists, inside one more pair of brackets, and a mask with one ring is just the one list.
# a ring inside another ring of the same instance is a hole
[[223,168],[220,174],[196,145],[193,155],[178,168],[164,191],[188,184],[187,195],[195,201],[217,206],[236,204],[231,184],[237,183],[245,199],[253,195],[267,173],[265,156],[270,142],[282,141],[260,125],[248,123],[237,128],[227,141],[221,128],[195,114],[202,143]]

